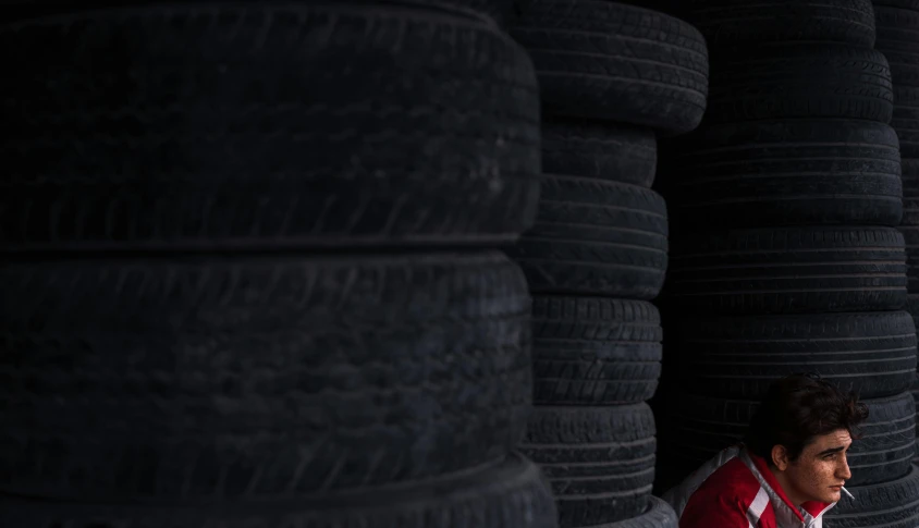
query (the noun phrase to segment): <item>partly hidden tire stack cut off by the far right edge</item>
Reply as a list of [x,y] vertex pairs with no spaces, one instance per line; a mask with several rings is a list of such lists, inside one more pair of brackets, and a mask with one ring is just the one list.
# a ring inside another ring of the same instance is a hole
[[[906,241],[907,310],[919,321],[919,1],[877,0],[874,20],[877,48],[887,58],[894,82],[891,125],[899,137],[903,158],[899,231]],[[919,403],[919,373],[912,391]]]

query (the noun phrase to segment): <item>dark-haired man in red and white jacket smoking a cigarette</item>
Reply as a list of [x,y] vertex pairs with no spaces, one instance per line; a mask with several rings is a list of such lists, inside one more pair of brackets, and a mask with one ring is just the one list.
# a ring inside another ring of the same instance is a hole
[[776,381],[728,447],[664,494],[679,528],[822,528],[851,477],[846,452],[868,408],[816,374]]

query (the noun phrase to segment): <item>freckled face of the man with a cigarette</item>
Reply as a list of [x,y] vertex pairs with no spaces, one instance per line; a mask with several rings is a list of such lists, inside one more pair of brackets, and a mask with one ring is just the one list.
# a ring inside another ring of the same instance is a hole
[[851,478],[846,452],[851,445],[851,435],[845,429],[814,438],[797,461],[785,469],[785,490],[792,500],[800,502],[836,502],[841,487]]

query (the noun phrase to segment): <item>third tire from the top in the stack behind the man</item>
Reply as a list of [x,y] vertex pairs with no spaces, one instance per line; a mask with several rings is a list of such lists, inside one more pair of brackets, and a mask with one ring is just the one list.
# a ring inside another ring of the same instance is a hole
[[896,226],[903,217],[899,143],[883,123],[725,123],[690,134],[676,156],[667,205],[681,224]]

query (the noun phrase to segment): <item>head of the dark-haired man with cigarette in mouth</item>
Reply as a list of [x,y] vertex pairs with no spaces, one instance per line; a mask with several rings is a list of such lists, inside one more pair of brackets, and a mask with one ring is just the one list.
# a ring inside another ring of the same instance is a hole
[[793,374],[770,386],[745,444],[765,458],[785,494],[797,505],[836,502],[851,477],[846,452],[868,407],[813,374]]

